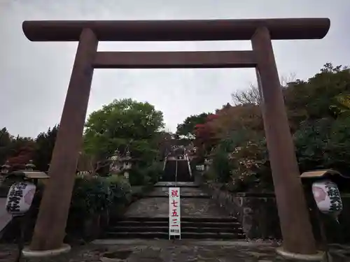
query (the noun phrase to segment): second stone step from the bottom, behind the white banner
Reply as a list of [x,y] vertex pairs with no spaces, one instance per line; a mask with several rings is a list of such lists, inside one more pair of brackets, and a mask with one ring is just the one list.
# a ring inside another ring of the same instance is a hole
[[[209,225],[208,225],[209,226]],[[203,225],[186,226],[181,224],[183,233],[243,233],[240,227],[204,227]],[[144,232],[169,232],[169,226],[114,226],[109,228],[109,233],[144,233]]]

